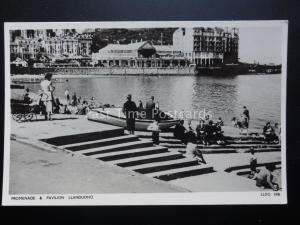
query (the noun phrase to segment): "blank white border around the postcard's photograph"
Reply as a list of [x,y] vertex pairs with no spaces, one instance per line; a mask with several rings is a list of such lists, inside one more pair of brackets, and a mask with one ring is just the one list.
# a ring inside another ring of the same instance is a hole
[[[198,192],[143,194],[44,194],[10,195],[10,56],[9,30],[80,28],[159,28],[159,27],[282,27],[281,124],[282,124],[282,190],[257,192]],[[3,205],[229,205],[229,204],[286,204],[286,88],[288,21],[126,21],[126,22],[17,22],[4,24],[5,42],[5,130],[3,164]],[[280,195],[276,194],[280,193]],[[47,196],[64,199],[47,200]],[[74,197],[77,196],[77,197]],[[79,197],[78,197],[79,196]],[[80,197],[81,196],[81,197]],[[90,197],[88,197],[90,196]],[[78,199],[85,198],[88,199]],[[13,200],[19,199],[19,200]],[[35,200],[22,200],[34,198]],[[71,199],[73,198],[73,199]]]

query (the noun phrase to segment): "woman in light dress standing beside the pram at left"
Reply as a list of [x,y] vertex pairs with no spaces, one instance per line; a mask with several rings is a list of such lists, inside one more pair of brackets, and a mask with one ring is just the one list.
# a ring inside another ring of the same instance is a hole
[[47,73],[45,79],[41,82],[41,88],[43,91],[43,100],[46,107],[45,120],[51,120],[52,108],[53,108],[53,91],[54,87],[52,86],[52,74]]

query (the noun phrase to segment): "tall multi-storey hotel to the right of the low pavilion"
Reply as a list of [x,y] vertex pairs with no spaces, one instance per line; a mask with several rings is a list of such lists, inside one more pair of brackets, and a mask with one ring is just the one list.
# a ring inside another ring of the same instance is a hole
[[236,28],[179,28],[173,34],[173,46],[200,67],[238,62]]

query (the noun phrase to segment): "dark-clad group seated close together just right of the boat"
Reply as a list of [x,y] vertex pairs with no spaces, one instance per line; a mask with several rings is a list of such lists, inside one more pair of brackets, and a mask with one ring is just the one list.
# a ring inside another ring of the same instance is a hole
[[183,144],[188,142],[200,142],[204,145],[225,144],[222,118],[219,118],[216,123],[210,120],[209,117],[206,117],[205,120],[200,119],[196,129],[192,128],[191,124],[191,121],[189,121],[188,128],[186,128],[184,120],[180,120],[174,128],[174,137],[181,140]]

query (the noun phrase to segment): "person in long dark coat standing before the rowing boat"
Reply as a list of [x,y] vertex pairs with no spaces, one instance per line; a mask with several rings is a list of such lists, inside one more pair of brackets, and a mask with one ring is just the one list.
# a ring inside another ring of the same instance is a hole
[[123,113],[126,116],[126,125],[129,134],[134,134],[135,130],[135,117],[137,113],[137,106],[134,101],[131,100],[132,96],[127,96],[127,101],[123,105]]

